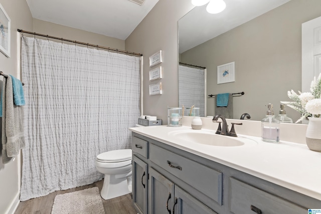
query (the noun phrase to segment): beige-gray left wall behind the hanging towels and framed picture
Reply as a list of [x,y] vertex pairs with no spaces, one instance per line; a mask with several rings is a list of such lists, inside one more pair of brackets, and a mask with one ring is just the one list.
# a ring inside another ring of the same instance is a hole
[[[11,57],[7,58],[0,53],[0,71],[18,77],[20,52],[17,51],[17,29],[32,31],[32,16],[24,0],[0,0],[0,4],[11,19]],[[2,81],[2,78],[0,80]],[[0,212],[12,211],[10,209],[17,205],[20,196],[20,157],[17,156],[7,164],[0,160],[0,192]]]

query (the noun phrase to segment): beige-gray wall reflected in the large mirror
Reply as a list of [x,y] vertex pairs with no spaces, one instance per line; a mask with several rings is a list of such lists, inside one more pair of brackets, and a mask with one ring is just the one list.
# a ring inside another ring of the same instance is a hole
[[[292,0],[229,32],[181,54],[181,62],[207,68],[207,93],[235,93],[234,119],[247,112],[261,120],[272,103],[289,101],[287,91],[301,90],[301,24],[321,16],[321,1]],[[235,82],[217,84],[217,66],[235,62]],[[207,114],[214,115],[214,99]],[[294,122],[299,114],[286,107]]]

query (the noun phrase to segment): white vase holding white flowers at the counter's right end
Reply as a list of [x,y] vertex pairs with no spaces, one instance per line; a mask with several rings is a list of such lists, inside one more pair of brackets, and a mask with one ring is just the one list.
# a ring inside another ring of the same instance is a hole
[[321,152],[321,118],[309,117],[305,141],[310,150]]

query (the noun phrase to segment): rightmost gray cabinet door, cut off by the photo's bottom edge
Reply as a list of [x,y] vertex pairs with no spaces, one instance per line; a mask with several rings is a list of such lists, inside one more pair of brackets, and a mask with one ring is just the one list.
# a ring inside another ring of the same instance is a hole
[[172,214],[217,214],[204,203],[175,185],[175,200]]

